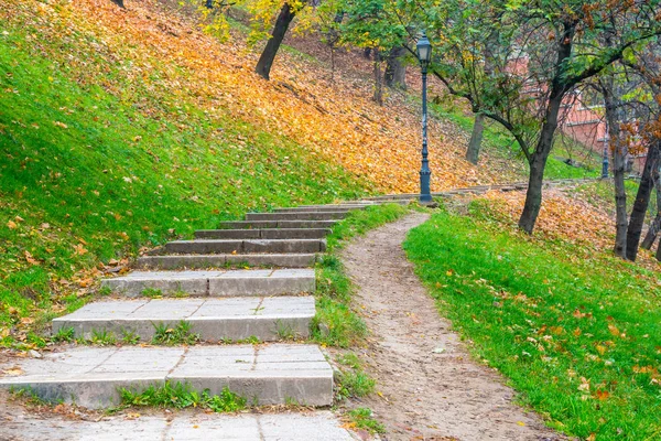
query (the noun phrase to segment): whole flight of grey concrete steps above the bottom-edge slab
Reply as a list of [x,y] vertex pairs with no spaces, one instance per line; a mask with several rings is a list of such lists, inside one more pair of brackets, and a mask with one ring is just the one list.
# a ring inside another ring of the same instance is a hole
[[[53,320],[55,333],[131,335],[147,345],[78,345],[21,359],[22,375],[0,378],[0,387],[88,408],[118,405],[120,388],[165,381],[212,394],[227,387],[252,405],[330,406],[332,366],[316,345],[297,343],[310,336],[315,315],[312,267],[337,222],[378,203],[249,213],[171,241],[139,258],[130,273],[104,280],[108,299]],[[204,344],[150,345],[156,329],[182,323]],[[231,344],[249,338],[268,343]]]

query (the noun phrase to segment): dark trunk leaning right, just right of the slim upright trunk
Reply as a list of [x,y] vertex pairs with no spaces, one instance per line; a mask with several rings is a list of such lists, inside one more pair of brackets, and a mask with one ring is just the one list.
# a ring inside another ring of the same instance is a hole
[[654,185],[652,171],[659,164],[660,143],[661,140],[655,139],[648,149],[644,169],[642,170],[642,176],[640,178],[640,185],[638,186],[638,193],[636,194],[636,201],[633,202],[633,208],[631,209],[631,217],[629,218],[629,229],[627,230],[627,259],[633,261],[638,255],[638,244],[640,241],[640,235],[642,234],[642,224],[644,223],[644,215],[650,204],[650,195]]

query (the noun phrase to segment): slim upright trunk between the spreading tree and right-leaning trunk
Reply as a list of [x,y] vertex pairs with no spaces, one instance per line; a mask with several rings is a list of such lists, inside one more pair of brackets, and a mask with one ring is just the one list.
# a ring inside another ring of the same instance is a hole
[[627,146],[622,142],[620,122],[622,118],[620,101],[614,90],[613,77],[602,83],[602,94],[606,105],[606,120],[608,121],[608,135],[613,146],[613,180],[615,184],[615,246],[613,252],[626,258],[627,254],[627,228],[629,226],[627,214],[627,192],[625,190],[625,172],[627,165]]

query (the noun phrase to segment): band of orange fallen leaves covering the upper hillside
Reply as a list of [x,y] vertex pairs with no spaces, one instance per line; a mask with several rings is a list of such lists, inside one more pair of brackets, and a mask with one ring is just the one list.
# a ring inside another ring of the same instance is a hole
[[[292,56],[281,60],[272,80],[266,82],[252,72],[257,54],[240,37],[221,44],[198,31],[201,26],[191,18],[155,0],[126,6],[123,10],[107,0],[9,0],[0,7],[0,18],[14,20],[12,15],[19,11],[35,14],[54,36],[66,35],[74,45],[93,45],[109,62],[121,63],[121,74],[137,88],[161,94],[171,105],[176,106],[177,97],[194,99],[209,118],[230,114],[291,137],[310,154],[344,165],[381,192],[418,191],[420,115],[416,105],[403,103],[404,97],[393,96],[392,105],[378,107],[370,101],[369,80],[332,83],[323,69],[312,69]],[[69,63],[80,83],[95,82],[94,71],[102,68],[76,57],[75,51]],[[119,89],[111,82],[104,80],[100,86],[139,101],[131,90]],[[143,111],[158,114],[152,108]],[[443,131],[432,120],[433,191],[497,180],[494,172],[478,172],[460,159],[460,140]]]

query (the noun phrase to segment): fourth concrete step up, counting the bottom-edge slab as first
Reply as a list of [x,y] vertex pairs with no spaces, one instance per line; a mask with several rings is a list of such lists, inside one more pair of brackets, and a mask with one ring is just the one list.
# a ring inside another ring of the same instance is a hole
[[284,295],[314,292],[314,269],[243,269],[217,271],[133,271],[105,279],[101,287],[138,297],[144,290],[188,295]]

